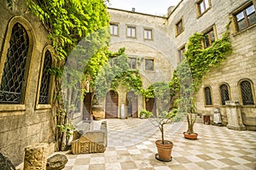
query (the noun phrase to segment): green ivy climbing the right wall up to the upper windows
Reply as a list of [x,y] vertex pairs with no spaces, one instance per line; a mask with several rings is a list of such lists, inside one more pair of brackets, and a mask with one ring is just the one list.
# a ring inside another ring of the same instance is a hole
[[203,34],[195,32],[189,37],[188,49],[184,53],[186,59],[177,66],[172,81],[169,83],[173,92],[172,96],[180,94],[180,90],[186,91],[191,96],[189,105],[193,106],[191,105],[191,100],[193,100],[191,93],[199,89],[202,78],[212,67],[218,67],[226,56],[232,53],[229,26],[230,23],[226,26],[222,38],[213,42],[209,48],[202,48]]

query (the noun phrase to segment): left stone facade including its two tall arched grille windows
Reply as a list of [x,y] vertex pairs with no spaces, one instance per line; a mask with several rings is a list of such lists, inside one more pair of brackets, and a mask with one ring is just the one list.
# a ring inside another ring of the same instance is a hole
[[47,31],[26,10],[25,1],[13,9],[0,2],[0,152],[15,166],[28,145],[55,150],[54,77],[47,73],[55,59]]

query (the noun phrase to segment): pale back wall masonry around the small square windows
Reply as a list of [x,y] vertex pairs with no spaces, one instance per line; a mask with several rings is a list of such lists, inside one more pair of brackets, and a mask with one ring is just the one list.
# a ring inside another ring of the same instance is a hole
[[[141,60],[138,62],[137,69],[143,79],[143,87],[148,88],[154,82],[170,82],[172,78],[173,66],[176,60],[173,60],[171,54],[172,39],[166,37],[166,19],[159,16],[133,13],[120,9],[108,8],[110,14],[110,23],[118,24],[119,35],[112,36],[110,50],[117,51],[125,47],[125,54],[128,57]],[[136,38],[126,37],[126,27],[136,26]],[[153,30],[153,40],[143,38],[143,29],[151,28]],[[154,71],[145,71],[145,60],[154,59]],[[119,117],[120,106],[126,102],[126,92],[119,89]],[[143,107],[143,98],[138,98],[138,110]],[[138,111],[138,112],[139,112]],[[125,108],[125,115],[127,108]]]

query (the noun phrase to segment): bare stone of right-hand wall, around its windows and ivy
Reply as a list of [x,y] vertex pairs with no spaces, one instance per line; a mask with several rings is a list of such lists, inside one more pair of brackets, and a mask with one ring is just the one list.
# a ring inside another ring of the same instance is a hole
[[[195,3],[197,1],[183,0],[173,10],[168,19],[168,26],[170,28],[169,36],[175,41],[175,48],[172,48],[172,54],[177,54],[177,49],[182,47],[188,42],[189,37],[196,31],[203,32],[209,27],[215,26],[217,37],[221,38],[222,33],[225,31],[225,26],[230,21],[230,14],[239,8],[242,4],[248,2],[247,0],[211,0],[212,7],[201,17],[197,17]],[[176,37],[175,24],[183,17],[184,31]],[[232,24],[231,26],[232,27]],[[199,111],[203,114],[213,114],[214,106],[219,107],[222,115],[222,121],[227,124],[226,108],[221,105],[221,99],[219,94],[219,86],[221,83],[226,82],[230,86],[230,98],[231,100],[238,100],[241,104],[241,96],[239,94],[238,82],[247,78],[253,82],[253,90],[255,94],[255,82],[256,82],[256,26],[241,31],[235,34],[234,30],[231,30],[231,43],[233,53],[227,57],[227,59],[218,66],[218,68],[212,68],[206,77],[202,80],[201,88],[195,94],[196,105]],[[178,56],[178,54],[177,54]],[[203,66],[203,65],[202,65]],[[203,88],[205,86],[211,86],[212,88],[212,106],[205,106]],[[255,102],[255,96],[254,96]],[[255,129],[255,113],[256,108],[253,106],[241,105],[241,115],[243,123],[247,129]]]

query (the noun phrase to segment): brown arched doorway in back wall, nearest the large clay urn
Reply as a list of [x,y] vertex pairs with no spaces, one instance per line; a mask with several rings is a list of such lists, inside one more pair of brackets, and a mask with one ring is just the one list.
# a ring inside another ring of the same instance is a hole
[[106,96],[105,118],[118,118],[119,95],[113,90],[108,91]]

